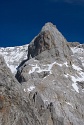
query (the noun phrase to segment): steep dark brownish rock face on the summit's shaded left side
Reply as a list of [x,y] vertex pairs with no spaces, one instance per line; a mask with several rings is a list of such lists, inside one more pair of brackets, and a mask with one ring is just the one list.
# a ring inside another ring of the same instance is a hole
[[34,40],[34,43],[30,43],[28,46],[28,59],[35,57],[46,49],[51,48],[53,39],[49,31],[41,32]]

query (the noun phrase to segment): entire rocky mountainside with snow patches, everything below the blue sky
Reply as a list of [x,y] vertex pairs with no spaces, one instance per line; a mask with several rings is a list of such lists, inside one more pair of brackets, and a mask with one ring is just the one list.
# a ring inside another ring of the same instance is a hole
[[46,23],[29,45],[0,54],[0,125],[84,125],[84,44]]

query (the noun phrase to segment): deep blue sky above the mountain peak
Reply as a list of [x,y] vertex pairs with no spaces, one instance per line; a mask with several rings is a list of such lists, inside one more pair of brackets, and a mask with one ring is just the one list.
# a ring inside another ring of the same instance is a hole
[[47,22],[84,43],[84,0],[0,0],[0,46],[29,43]]

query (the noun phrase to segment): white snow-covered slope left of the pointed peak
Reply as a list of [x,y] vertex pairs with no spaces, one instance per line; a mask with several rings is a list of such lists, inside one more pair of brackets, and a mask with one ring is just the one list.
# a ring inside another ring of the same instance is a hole
[[19,63],[27,58],[28,44],[23,46],[0,48],[0,54],[3,55],[7,66],[12,73],[16,73],[16,68]]

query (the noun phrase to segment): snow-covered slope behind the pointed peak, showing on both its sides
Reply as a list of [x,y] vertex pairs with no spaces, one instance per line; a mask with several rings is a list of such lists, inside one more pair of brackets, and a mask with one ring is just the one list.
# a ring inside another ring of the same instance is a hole
[[[84,66],[84,47],[80,44],[76,47],[71,47],[73,54],[82,62]],[[27,58],[28,44],[15,47],[0,47],[0,54],[3,55],[7,66],[11,69],[12,73],[16,73],[16,68],[20,62]]]

